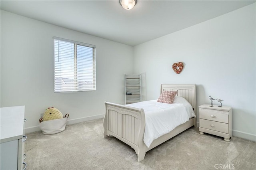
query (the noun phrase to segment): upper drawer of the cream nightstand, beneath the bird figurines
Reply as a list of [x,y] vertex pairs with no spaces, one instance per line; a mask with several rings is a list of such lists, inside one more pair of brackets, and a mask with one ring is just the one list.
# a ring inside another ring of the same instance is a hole
[[199,108],[200,119],[228,123],[228,112]]

